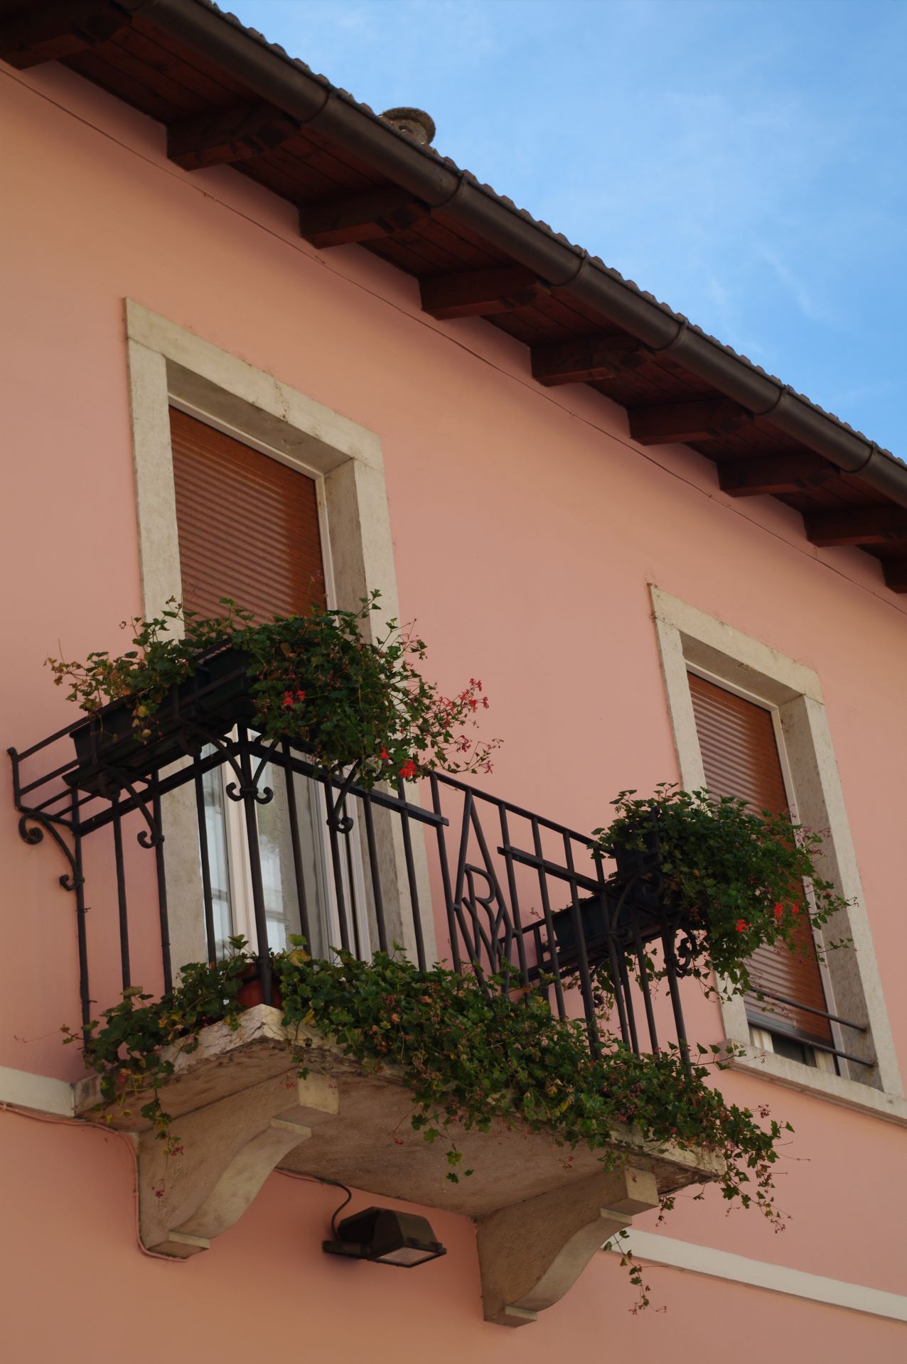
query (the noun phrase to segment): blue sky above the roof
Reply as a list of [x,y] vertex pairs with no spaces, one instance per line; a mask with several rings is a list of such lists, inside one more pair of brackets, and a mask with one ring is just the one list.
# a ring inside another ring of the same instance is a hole
[[233,8],[907,458],[907,0]]

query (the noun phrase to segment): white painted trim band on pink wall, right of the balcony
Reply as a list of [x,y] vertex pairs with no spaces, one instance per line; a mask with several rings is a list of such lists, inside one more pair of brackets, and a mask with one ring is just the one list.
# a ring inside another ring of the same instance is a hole
[[753,1260],[747,1255],[678,1241],[655,1232],[630,1232],[625,1241],[614,1245],[608,1243],[604,1249],[621,1251],[627,1247],[637,1259],[649,1264],[664,1264],[690,1274],[705,1274],[708,1278],[767,1289],[769,1293],[786,1293],[788,1297],[803,1297],[810,1303],[825,1303],[829,1307],[848,1308],[851,1312],[869,1312],[872,1316],[907,1322],[907,1297],[902,1293],[887,1293],[863,1284],[827,1278],[824,1274],[807,1274],[805,1270],[791,1270],[783,1264]]

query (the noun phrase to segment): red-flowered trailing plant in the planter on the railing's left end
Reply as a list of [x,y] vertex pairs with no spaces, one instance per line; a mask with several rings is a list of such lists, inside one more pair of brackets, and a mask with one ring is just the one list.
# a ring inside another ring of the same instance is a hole
[[292,741],[331,773],[355,768],[356,780],[371,787],[435,768],[490,772],[499,741],[473,742],[465,732],[488,707],[481,682],[471,678],[456,696],[443,696],[419,671],[424,640],[397,621],[379,638],[366,638],[363,626],[379,599],[374,591],[357,611],[315,610],[265,622],[229,599],[225,614],[213,618],[169,602],[160,617],[123,622],[134,645],[125,653],[95,651],[82,663],[48,664],[55,685],[68,685],[68,698],[89,713],[125,701],[135,738],[149,742],[168,690],[211,655],[235,648],[248,660],[254,728],[266,739]]

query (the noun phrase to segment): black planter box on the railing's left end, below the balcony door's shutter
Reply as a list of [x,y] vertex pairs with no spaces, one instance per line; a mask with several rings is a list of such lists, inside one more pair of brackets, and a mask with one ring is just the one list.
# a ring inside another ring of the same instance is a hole
[[243,649],[221,649],[200,660],[191,678],[176,683],[149,717],[151,737],[135,737],[130,698],[112,701],[72,731],[78,767],[65,773],[70,786],[94,794],[116,782],[142,777],[198,752],[205,735],[228,734],[255,715],[248,683],[250,657]]

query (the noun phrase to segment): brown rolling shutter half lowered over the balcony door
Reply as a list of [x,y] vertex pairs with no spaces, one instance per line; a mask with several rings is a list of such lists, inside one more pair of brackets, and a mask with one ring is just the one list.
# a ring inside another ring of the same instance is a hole
[[183,604],[259,619],[325,606],[315,481],[170,408]]

